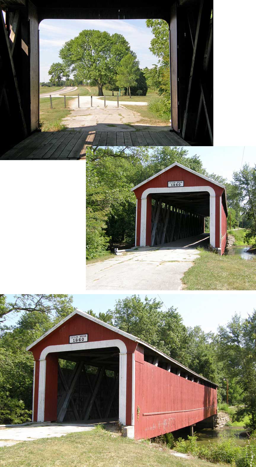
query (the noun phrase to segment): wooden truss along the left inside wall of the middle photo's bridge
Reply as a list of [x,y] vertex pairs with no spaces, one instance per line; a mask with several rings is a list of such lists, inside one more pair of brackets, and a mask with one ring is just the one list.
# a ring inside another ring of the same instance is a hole
[[156,199],[152,205],[152,247],[203,232],[204,216],[187,212],[162,198]]

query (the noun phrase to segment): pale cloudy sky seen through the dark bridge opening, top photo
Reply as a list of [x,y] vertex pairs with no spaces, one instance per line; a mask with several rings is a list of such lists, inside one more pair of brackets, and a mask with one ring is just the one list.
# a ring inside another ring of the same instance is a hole
[[152,67],[157,58],[149,50],[153,37],[145,20],[43,20],[40,30],[40,81],[48,81],[48,69],[60,62],[59,50],[66,41],[76,37],[83,29],[107,31],[111,35],[122,34],[137,54],[140,68]]

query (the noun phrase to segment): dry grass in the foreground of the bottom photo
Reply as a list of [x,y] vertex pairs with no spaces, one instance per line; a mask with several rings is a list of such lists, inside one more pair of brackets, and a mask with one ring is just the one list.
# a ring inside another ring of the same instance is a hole
[[[209,467],[207,461],[174,457],[169,449],[104,430],[25,441],[0,448],[0,467]],[[224,464],[218,464],[224,467]]]

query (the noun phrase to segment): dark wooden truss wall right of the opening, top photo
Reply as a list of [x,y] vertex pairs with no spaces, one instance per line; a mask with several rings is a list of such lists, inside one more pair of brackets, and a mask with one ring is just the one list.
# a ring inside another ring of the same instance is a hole
[[180,1],[172,18],[173,128],[187,142],[213,145],[213,0]]

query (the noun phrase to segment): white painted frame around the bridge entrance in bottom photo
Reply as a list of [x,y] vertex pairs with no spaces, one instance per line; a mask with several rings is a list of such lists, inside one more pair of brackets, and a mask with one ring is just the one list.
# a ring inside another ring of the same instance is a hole
[[[127,349],[125,343],[120,339],[98,340],[95,342],[82,342],[80,344],[63,344],[48,346],[42,350],[39,366],[39,389],[38,389],[38,409],[37,421],[44,422],[45,385],[46,385],[46,357],[53,352],[70,352],[72,350],[89,350],[104,347],[119,348],[119,421],[126,424],[126,368]],[[133,368],[132,368],[133,370]],[[134,375],[135,376],[135,375]],[[133,377],[134,377],[133,376]],[[134,395],[133,395],[134,397]],[[34,395],[33,395],[34,398]],[[132,406],[134,401],[132,401]],[[134,411],[134,408],[133,408]],[[134,417],[133,417],[134,418]]]

